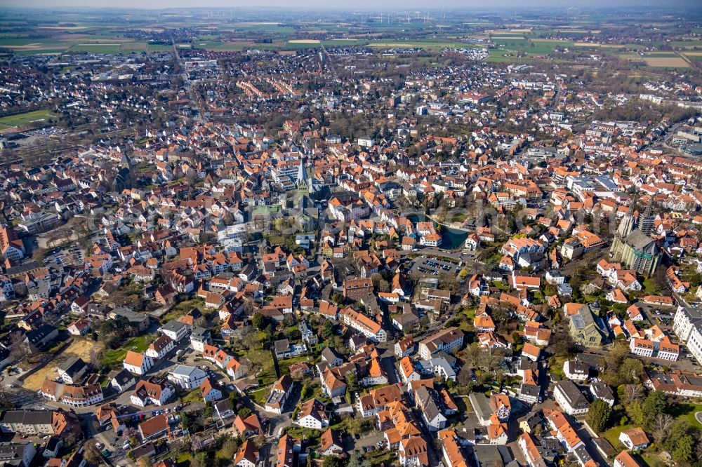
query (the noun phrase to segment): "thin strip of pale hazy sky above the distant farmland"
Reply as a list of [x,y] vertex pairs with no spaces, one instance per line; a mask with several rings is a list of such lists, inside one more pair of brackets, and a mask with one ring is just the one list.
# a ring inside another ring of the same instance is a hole
[[426,1],[420,0],[385,0],[382,2],[373,0],[206,0],[194,5],[191,0],[151,0],[145,5],[143,0],[4,0],[0,8],[141,8],[141,9],[168,9],[168,8],[317,8],[330,9],[342,8],[354,10],[359,8],[371,8],[380,10],[406,10],[425,9],[439,10],[442,8],[479,8],[479,9],[499,9],[499,8],[630,8],[641,6],[646,8],[688,8],[699,7],[702,4],[696,0],[671,0],[664,4],[656,1],[643,0],[495,0],[486,4],[482,0],[442,0],[431,4],[430,8]]

